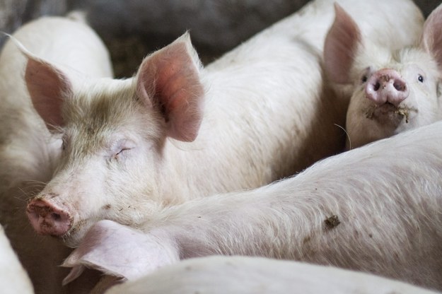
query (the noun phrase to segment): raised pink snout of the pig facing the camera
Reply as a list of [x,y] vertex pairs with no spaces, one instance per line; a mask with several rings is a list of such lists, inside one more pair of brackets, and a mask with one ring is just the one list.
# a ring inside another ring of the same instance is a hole
[[365,92],[366,98],[376,105],[390,102],[397,106],[408,97],[407,83],[392,69],[381,69],[373,73],[367,81]]

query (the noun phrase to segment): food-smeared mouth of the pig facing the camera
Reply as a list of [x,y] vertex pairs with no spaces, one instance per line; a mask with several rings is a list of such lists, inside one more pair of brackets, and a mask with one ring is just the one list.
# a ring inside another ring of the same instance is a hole
[[408,124],[412,112],[417,112],[417,110],[406,105],[396,106],[386,102],[383,105],[371,105],[365,114],[367,119],[372,119],[380,124],[399,125],[401,122]]

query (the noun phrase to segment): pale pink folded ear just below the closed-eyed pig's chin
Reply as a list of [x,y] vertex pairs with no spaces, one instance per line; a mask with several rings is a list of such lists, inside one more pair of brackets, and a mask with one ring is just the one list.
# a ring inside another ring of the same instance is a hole
[[85,267],[132,280],[179,259],[177,245],[162,230],[148,235],[111,220],[100,220],[62,264],[73,268],[63,283],[80,276]]

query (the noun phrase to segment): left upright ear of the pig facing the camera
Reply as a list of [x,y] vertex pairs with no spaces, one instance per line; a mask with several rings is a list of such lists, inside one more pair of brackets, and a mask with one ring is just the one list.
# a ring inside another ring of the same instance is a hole
[[361,32],[353,18],[335,3],[335,22],[325,37],[325,72],[335,83],[349,83],[349,71],[361,44]]

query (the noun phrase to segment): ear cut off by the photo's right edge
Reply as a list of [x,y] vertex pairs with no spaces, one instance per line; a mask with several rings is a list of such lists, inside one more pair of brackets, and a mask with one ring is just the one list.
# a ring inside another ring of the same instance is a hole
[[439,5],[424,23],[421,45],[438,61],[442,68],[442,4]]

